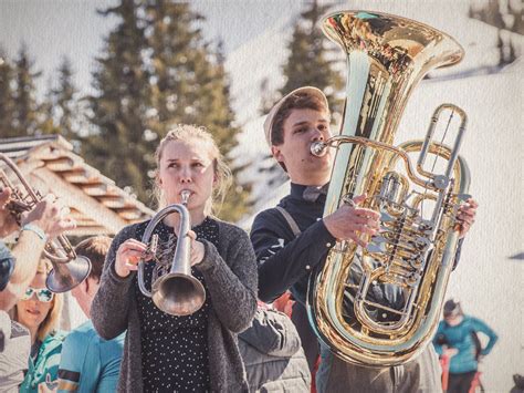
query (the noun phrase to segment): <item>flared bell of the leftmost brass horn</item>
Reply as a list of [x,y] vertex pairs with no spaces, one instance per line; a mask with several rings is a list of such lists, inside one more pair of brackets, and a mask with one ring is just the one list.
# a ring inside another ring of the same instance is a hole
[[72,290],[84,281],[91,272],[91,261],[86,257],[77,256],[67,263],[51,262],[53,270],[49,273],[45,286],[55,293]]

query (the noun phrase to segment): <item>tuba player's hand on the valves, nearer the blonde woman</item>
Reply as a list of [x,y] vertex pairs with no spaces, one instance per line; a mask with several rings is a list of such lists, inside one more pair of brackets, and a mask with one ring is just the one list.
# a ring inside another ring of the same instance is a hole
[[363,235],[375,235],[380,227],[380,215],[371,209],[358,207],[366,195],[353,198],[355,206],[343,205],[336,211],[324,218],[324,224],[335,238],[353,240],[361,247],[367,246]]

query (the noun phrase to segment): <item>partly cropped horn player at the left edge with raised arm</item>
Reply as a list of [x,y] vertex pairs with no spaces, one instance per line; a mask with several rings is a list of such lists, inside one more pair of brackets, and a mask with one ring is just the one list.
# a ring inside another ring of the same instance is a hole
[[[45,197],[27,213],[18,225],[8,209],[11,189],[0,190],[0,392],[18,392],[28,369],[31,335],[22,324],[12,321],[9,311],[22,297],[36,273],[44,246],[63,231],[73,229],[74,221],[64,218],[53,197]],[[2,241],[20,230],[12,250]]]

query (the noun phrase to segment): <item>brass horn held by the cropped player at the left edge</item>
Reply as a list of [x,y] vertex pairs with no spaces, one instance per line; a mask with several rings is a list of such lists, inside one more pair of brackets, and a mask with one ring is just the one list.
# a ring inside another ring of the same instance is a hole
[[[0,188],[11,188],[11,200],[7,209],[14,216],[18,224],[21,223],[22,214],[32,210],[36,204],[42,200],[41,195],[35,192],[20,173],[7,155],[0,153],[0,162],[6,164],[6,168],[19,179],[22,187],[17,187],[8,176],[8,173],[0,168]],[[53,269],[45,280],[48,289],[55,293],[66,292],[82,281],[91,272],[91,261],[88,258],[77,256],[70,240],[60,235],[56,239],[51,239],[45,245],[44,256],[51,261]]]

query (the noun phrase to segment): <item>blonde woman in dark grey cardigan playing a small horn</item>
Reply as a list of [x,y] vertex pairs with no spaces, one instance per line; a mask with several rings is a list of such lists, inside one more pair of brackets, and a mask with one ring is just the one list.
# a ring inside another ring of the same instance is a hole
[[211,216],[212,197],[226,177],[220,153],[202,127],[178,125],[160,141],[156,159],[160,207],[180,204],[182,192],[190,193],[191,275],[202,283],[206,301],[191,314],[170,316],[138,286],[136,270],[143,258],[148,260],[147,289],[169,270],[178,214],[155,227],[154,258],[139,240],[147,221],[116,235],[91,313],[103,339],[127,330],[117,391],[247,392],[237,334],[251,324],[256,311],[256,262],[248,235]]

